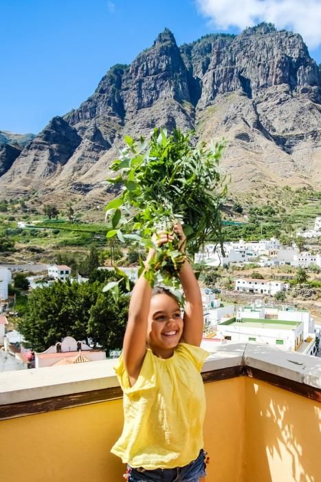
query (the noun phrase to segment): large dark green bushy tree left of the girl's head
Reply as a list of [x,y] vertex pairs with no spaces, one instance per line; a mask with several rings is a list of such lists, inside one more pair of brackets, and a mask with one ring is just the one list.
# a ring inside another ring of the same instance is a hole
[[[119,279],[115,273],[108,276],[109,280]],[[120,284],[119,303],[116,304],[111,293],[102,293],[105,284],[105,281],[94,279],[87,283],[55,282],[52,286],[32,291],[26,312],[18,322],[26,344],[36,351],[43,351],[64,337],[72,336],[86,342],[88,337],[93,337],[96,344],[106,349],[119,347],[129,297],[123,297],[123,285]],[[108,314],[109,319],[102,313]],[[95,326],[99,327],[98,334],[95,334]]]

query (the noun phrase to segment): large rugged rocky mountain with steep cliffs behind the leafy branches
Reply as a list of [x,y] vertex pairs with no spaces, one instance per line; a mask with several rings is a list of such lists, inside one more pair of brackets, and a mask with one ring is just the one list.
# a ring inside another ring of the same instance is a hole
[[105,200],[123,136],[155,125],[227,138],[221,165],[236,191],[321,181],[321,72],[300,35],[262,23],[181,47],[165,29],[78,109],[52,119],[0,177],[1,191]]

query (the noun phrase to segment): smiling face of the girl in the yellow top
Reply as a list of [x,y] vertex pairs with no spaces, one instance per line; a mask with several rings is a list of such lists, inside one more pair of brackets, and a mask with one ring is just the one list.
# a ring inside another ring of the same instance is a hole
[[151,298],[148,313],[147,344],[155,355],[169,358],[179,344],[184,322],[173,297],[159,293]]

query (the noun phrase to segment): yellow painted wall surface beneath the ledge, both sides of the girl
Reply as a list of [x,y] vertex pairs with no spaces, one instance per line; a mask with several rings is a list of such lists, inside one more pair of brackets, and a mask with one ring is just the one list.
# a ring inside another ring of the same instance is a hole
[[[320,405],[240,377],[206,384],[207,482],[320,482]],[[122,400],[0,421],[0,480],[118,482]],[[3,450],[4,448],[4,450]]]

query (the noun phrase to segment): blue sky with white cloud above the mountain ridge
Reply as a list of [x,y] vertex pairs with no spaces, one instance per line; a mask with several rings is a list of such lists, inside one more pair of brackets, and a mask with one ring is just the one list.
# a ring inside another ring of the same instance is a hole
[[300,33],[321,63],[321,0],[1,0],[0,130],[37,134],[166,27],[181,45],[260,21]]

